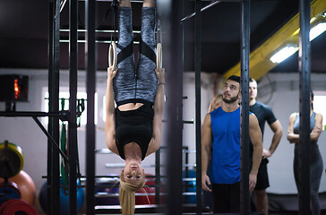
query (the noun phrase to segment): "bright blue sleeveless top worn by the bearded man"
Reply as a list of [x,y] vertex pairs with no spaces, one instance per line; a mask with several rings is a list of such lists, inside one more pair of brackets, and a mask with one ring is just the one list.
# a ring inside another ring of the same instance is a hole
[[[251,114],[251,113],[250,113]],[[222,107],[210,113],[212,162],[210,182],[235,184],[240,181],[240,107],[225,112]]]

